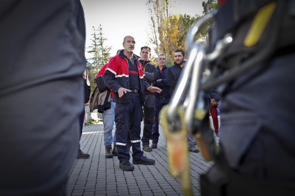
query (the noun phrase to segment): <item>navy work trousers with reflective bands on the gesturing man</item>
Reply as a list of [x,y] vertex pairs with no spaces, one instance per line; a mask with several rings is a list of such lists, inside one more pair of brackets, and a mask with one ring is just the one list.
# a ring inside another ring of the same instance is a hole
[[130,159],[130,154],[127,148],[128,129],[130,129],[133,160],[139,160],[143,156],[143,152],[140,150],[141,118],[142,103],[139,93],[130,93],[130,103],[116,103],[116,143],[118,159],[120,162]]

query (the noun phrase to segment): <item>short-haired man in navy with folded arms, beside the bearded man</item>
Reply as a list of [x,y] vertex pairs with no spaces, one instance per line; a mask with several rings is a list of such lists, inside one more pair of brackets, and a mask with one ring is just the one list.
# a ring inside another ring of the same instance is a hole
[[159,113],[160,110],[167,105],[170,101],[170,86],[166,81],[166,56],[164,54],[160,54],[158,56],[158,66],[157,70],[159,73],[159,79],[155,82],[154,86],[159,87],[162,89],[162,92],[156,94],[156,102],[155,102],[155,115],[154,115],[154,122],[152,128],[152,142],[151,148],[157,148],[158,140],[159,140]]

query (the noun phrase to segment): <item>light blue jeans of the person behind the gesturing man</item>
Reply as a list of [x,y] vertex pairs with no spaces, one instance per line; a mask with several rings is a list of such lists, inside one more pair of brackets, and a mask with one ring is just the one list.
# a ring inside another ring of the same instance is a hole
[[[112,135],[112,130],[114,128],[114,120],[115,120],[115,107],[116,103],[113,102],[113,98],[111,98],[111,108],[108,110],[104,110],[102,114],[102,122],[104,123],[104,145],[114,145],[116,144],[116,130],[114,134],[114,138]],[[117,123],[116,123],[117,129]]]

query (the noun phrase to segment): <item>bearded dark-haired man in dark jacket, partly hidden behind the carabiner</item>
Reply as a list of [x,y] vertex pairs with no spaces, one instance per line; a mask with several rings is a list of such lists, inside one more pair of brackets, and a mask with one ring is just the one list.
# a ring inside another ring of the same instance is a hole
[[[170,94],[172,97],[174,88],[177,84],[178,79],[181,76],[181,71],[184,64],[184,51],[181,49],[177,49],[174,51],[174,65],[168,67],[167,73],[166,73],[166,80],[168,85],[170,86]],[[195,140],[194,138],[190,135],[190,133],[187,133],[187,140],[188,140],[188,145],[189,145],[189,151],[198,153],[200,150],[196,148],[195,146]]]

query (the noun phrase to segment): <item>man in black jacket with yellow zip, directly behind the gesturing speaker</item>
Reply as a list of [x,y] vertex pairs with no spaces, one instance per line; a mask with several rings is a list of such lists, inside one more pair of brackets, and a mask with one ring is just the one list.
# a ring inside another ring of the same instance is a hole
[[[140,49],[140,63],[142,64],[143,71],[145,73],[145,81],[152,85],[157,81],[159,73],[157,68],[151,64],[148,59],[150,58],[150,47],[143,46]],[[150,140],[152,139],[152,125],[154,120],[154,111],[155,111],[155,95],[150,91],[145,91],[145,104],[143,105],[143,135],[141,138],[142,141],[142,150],[152,151],[150,148]]]

